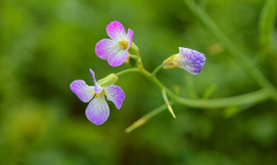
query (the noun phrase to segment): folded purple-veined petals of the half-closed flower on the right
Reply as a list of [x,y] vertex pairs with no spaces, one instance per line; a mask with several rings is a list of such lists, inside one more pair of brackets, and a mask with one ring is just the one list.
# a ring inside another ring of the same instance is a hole
[[184,59],[179,61],[180,68],[187,70],[191,74],[198,74],[206,62],[205,55],[198,51],[183,47],[179,47],[179,52],[180,55],[184,57]]

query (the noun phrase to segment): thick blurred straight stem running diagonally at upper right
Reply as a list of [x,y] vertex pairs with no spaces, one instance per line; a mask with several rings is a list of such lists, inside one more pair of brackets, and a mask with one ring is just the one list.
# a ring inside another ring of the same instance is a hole
[[263,73],[254,66],[254,64],[229,40],[229,38],[220,30],[207,13],[192,0],[184,0],[187,7],[209,28],[209,30],[221,41],[231,53],[237,63],[246,70],[257,83],[263,87],[272,98],[277,101],[277,90],[267,80]]

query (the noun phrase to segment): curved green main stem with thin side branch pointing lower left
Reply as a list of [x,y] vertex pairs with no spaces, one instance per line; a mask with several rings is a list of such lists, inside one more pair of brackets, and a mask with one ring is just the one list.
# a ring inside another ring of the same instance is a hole
[[154,85],[156,85],[160,90],[162,90],[162,94],[166,104],[156,108],[155,110],[149,112],[148,114],[144,115],[142,118],[134,122],[131,126],[126,128],[125,130],[126,133],[130,133],[134,129],[142,126],[149,119],[156,116],[160,112],[166,110],[166,108],[168,108],[168,105],[170,104],[172,105],[173,102],[169,103],[166,97],[166,94],[168,94],[173,99],[174,102],[180,105],[185,105],[192,108],[224,108],[229,106],[249,105],[249,104],[255,104],[270,98],[269,93],[261,89],[255,92],[250,92],[242,95],[225,97],[220,99],[189,99],[189,98],[177,96],[170,89],[166,88],[155,75],[149,73],[147,70],[143,68],[140,68],[140,69],[133,68],[133,69],[123,70],[121,72],[118,72],[116,75],[121,76],[123,74],[130,73],[130,72],[141,73],[143,76],[148,78]]

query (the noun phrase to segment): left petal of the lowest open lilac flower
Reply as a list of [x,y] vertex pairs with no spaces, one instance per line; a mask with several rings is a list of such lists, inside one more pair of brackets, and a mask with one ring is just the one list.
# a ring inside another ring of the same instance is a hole
[[70,84],[70,89],[77,97],[87,103],[92,99],[92,93],[94,92],[94,86],[88,86],[84,80],[75,80]]

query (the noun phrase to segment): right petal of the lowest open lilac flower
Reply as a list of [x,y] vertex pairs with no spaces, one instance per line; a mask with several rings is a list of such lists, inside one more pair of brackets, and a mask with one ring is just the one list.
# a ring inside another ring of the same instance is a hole
[[121,108],[122,102],[125,99],[125,93],[117,85],[111,85],[104,89],[107,99],[113,101],[117,109]]

